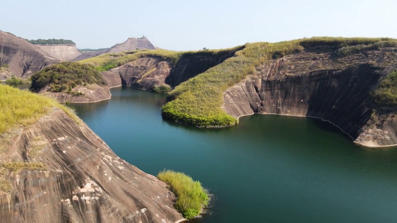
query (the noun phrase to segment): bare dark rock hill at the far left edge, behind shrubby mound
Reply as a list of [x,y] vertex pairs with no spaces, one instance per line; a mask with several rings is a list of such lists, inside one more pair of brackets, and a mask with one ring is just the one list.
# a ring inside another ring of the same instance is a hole
[[15,75],[28,78],[46,65],[60,62],[25,40],[0,31],[0,80]]

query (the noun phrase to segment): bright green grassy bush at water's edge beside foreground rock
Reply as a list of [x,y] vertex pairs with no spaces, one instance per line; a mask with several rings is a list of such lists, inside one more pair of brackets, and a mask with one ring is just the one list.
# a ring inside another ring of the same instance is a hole
[[192,219],[208,205],[207,191],[200,182],[193,181],[188,175],[172,170],[163,170],[158,173],[157,177],[166,182],[170,186],[170,190],[177,196],[175,208],[181,211],[183,217]]

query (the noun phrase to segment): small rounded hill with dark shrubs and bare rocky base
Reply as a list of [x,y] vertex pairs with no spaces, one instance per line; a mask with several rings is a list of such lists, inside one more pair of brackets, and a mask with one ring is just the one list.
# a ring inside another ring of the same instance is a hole
[[110,98],[106,81],[92,65],[61,62],[35,73],[31,90],[59,102],[96,102]]

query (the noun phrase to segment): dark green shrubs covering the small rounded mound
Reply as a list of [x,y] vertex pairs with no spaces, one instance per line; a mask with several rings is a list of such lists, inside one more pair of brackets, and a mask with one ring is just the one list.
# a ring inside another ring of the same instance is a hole
[[71,92],[77,85],[106,85],[102,74],[92,65],[61,62],[45,67],[31,77],[31,90],[39,91],[50,85],[52,92]]

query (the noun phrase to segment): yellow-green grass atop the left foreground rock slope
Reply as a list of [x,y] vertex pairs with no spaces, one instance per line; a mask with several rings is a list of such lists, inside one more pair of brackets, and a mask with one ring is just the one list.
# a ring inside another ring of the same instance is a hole
[[29,126],[43,115],[49,114],[54,107],[64,110],[79,123],[71,108],[59,104],[52,98],[34,94],[29,90],[0,85],[0,134],[14,127]]

